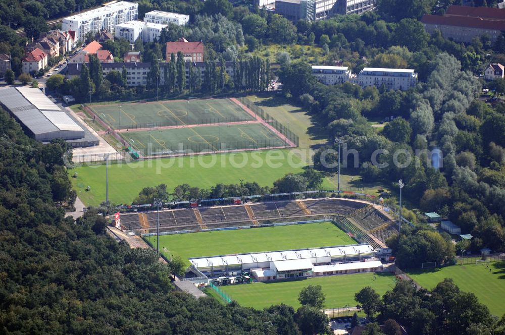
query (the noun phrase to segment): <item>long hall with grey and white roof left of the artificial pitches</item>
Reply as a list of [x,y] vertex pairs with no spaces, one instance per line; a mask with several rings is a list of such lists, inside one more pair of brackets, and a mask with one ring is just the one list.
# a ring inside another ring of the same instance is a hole
[[38,141],[63,138],[73,146],[98,144],[97,138],[37,88],[0,89],[0,103]]

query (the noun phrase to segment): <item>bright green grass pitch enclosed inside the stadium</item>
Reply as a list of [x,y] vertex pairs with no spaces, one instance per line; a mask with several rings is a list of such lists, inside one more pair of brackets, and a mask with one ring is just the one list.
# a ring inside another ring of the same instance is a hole
[[[156,236],[147,237],[146,240],[156,245]],[[331,222],[160,236],[160,249],[165,247],[184,260],[190,257],[355,243]]]

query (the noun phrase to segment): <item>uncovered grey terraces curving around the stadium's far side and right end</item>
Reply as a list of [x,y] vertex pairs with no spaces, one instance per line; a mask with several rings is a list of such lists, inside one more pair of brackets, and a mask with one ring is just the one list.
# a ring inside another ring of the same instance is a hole
[[[397,233],[394,221],[367,202],[342,198],[256,202],[160,211],[162,234],[190,233],[209,229],[254,227],[313,220],[333,220],[351,237],[375,248]],[[157,212],[124,213],[124,230],[153,233]]]

